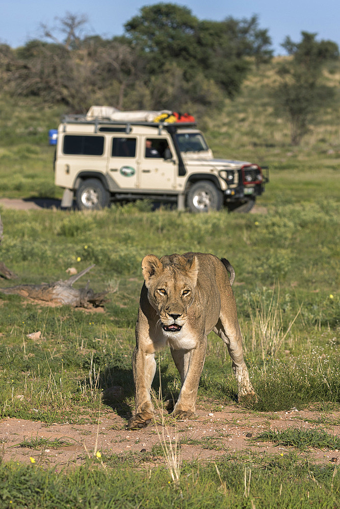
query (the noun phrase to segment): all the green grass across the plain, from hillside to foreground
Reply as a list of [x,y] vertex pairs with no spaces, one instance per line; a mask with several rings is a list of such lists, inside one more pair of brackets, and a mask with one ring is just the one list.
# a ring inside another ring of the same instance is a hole
[[[49,308],[0,292],[1,418],[81,426],[97,423],[100,408],[110,403],[107,408],[127,419],[134,408],[131,357],[141,260],[147,253],[162,256],[189,250],[227,257],[236,270],[233,291],[258,396],[251,410],[276,412],[310,405],[321,412],[339,409],[339,185],[335,177],[340,110],[325,110],[310,126],[301,147],[289,147],[289,128],[273,115],[268,94],[274,68],[267,69],[265,75],[265,69],[254,73],[243,95],[227,101],[219,118],[205,120],[208,142],[217,157],[270,166],[270,183],[258,200],[265,214],[194,215],[166,208],[151,212],[146,202],[91,214],[0,210],[1,260],[18,274],[15,282],[2,280],[1,287],[67,279],[67,268],[80,271],[94,263],[88,273],[90,288],[111,291],[104,313]],[[62,108],[42,105],[36,98],[14,101],[5,96],[0,97],[0,105],[3,196],[60,197],[53,183],[54,149],[47,145],[47,132],[58,125]],[[80,280],[75,286],[86,282]],[[40,337],[28,337],[37,331]],[[160,353],[159,366],[161,383],[159,377],[153,383],[158,400],[160,386],[164,395],[175,395],[180,387],[167,350]],[[102,400],[103,391],[114,385],[123,387],[122,399]],[[208,338],[198,407],[204,408],[207,401],[216,402],[211,404],[217,409],[236,401],[230,358],[214,334]],[[316,422],[318,426],[336,425],[329,415],[323,417],[325,422]],[[165,424],[174,436],[173,425]],[[294,445],[293,434],[298,432],[288,432],[286,439]],[[123,441],[124,430],[117,433],[117,440]],[[308,433],[300,442],[297,439],[300,447],[308,440],[317,447],[329,446],[330,434],[323,436],[319,429]],[[275,437],[284,439],[277,431],[270,440]],[[218,438],[198,439],[197,445],[220,449]],[[34,444],[34,440],[24,442]],[[45,447],[40,440],[37,437],[36,445]],[[167,449],[161,446],[152,454],[110,455],[102,450],[98,458],[91,451],[83,467],[58,474],[38,464],[3,464],[0,509],[339,507],[336,465],[310,465],[293,454],[260,458],[251,453],[225,453],[216,466],[182,462],[180,446],[190,440],[194,439],[167,442]],[[173,475],[169,464],[149,468],[159,455],[172,462]]]

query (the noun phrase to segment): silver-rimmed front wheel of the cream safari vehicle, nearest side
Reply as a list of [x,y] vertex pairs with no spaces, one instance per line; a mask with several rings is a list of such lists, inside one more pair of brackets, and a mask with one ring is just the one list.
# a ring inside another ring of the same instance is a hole
[[187,205],[192,212],[220,210],[223,205],[223,194],[209,180],[201,180],[190,187]]

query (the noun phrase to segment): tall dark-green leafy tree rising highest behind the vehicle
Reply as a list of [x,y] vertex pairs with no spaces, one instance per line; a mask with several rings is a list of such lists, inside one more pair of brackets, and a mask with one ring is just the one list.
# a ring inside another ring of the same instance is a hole
[[256,16],[199,21],[187,7],[161,3],[143,7],[124,26],[144,55],[150,76],[161,75],[174,63],[186,82],[203,75],[230,96],[239,91],[249,69],[245,57],[254,56],[257,63],[271,57],[270,38],[259,29]]

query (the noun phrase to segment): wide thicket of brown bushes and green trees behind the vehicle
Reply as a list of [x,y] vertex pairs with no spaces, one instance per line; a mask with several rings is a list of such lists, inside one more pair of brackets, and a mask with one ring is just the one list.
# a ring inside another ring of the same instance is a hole
[[111,40],[84,37],[86,24],[85,15],[67,12],[54,27],[41,25],[43,40],[0,47],[0,79],[14,94],[75,112],[97,102],[202,112],[240,90],[249,56],[260,63],[271,55],[256,16],[201,21],[187,7],[159,3],[142,7]]

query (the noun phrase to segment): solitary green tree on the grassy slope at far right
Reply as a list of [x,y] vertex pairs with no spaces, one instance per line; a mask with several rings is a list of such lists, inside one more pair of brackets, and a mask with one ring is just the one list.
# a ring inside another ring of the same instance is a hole
[[279,86],[275,89],[276,106],[283,110],[291,126],[291,143],[299,145],[322,99],[329,100],[333,91],[320,83],[322,70],[329,60],[338,59],[339,49],[332,41],[316,40],[317,34],[301,32],[302,40],[286,37],[282,47],[292,59],[278,69]]

